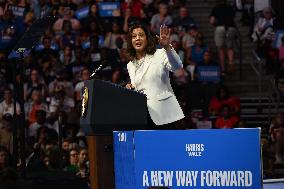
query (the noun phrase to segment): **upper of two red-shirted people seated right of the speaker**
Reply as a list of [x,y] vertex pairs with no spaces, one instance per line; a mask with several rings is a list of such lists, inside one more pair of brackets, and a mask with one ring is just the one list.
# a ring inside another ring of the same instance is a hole
[[238,115],[240,112],[240,99],[235,96],[231,96],[229,89],[221,85],[217,90],[216,96],[212,97],[209,104],[209,114],[216,116],[221,110],[223,105],[229,105],[233,115]]

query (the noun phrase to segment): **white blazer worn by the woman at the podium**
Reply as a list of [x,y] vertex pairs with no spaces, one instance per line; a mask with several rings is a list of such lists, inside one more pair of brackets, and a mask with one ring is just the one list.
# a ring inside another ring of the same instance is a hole
[[137,71],[132,61],[127,64],[131,84],[147,96],[148,111],[156,125],[184,118],[169,78],[169,71],[180,68],[182,62],[174,49],[157,49],[153,55],[146,55]]

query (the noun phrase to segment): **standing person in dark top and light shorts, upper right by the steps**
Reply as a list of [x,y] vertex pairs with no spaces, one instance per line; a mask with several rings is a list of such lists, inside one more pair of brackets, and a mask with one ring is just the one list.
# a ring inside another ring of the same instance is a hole
[[235,71],[234,44],[237,36],[234,21],[235,10],[226,0],[218,0],[210,14],[210,24],[215,27],[214,40],[218,48],[222,74],[225,74],[225,53],[228,56],[228,72]]

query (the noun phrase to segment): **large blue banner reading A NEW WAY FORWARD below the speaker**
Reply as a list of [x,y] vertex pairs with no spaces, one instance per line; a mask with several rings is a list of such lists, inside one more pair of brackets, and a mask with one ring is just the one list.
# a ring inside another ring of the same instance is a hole
[[123,159],[117,162],[117,156],[129,153],[119,143],[115,145],[116,189],[261,188],[259,129],[136,131],[131,140],[134,168],[130,163],[132,175],[127,179],[133,182],[135,177],[135,187],[119,185],[117,166],[128,165]]

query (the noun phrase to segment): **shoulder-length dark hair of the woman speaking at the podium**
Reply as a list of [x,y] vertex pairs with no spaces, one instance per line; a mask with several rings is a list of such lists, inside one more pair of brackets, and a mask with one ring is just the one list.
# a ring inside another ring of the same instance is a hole
[[127,34],[127,52],[130,56],[130,60],[133,60],[136,56],[136,51],[132,45],[132,32],[134,29],[136,28],[141,28],[146,35],[146,39],[147,39],[147,45],[145,47],[145,52],[146,54],[154,54],[156,52],[156,45],[157,45],[157,40],[155,40],[154,36],[150,33],[150,31],[148,30],[148,28],[146,28],[143,25],[133,25]]

